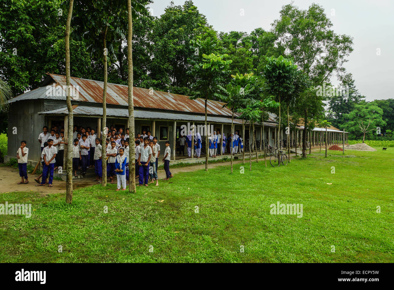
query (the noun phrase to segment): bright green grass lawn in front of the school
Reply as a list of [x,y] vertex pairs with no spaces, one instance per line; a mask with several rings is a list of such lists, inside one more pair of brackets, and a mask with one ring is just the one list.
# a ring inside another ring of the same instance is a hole
[[[72,206],[2,193],[34,211],[0,216],[0,262],[394,262],[394,148],[376,149],[185,172],[132,195],[93,185]],[[303,217],[271,215],[277,202],[303,204]]]

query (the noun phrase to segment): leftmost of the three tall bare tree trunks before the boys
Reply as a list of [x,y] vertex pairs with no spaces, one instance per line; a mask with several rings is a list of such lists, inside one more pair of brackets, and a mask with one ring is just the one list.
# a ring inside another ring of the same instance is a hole
[[[71,95],[70,95],[70,83],[71,83],[71,72],[70,72],[70,25],[72,17],[72,6],[74,5],[74,0],[70,0],[69,4],[69,14],[67,16],[66,32],[65,32],[65,50],[66,50],[66,98],[67,98],[67,110],[68,110],[68,136],[67,136],[67,179],[66,179],[66,203],[72,203],[72,129],[74,129],[73,124],[73,113],[71,106]],[[43,180],[44,180],[43,176]]]

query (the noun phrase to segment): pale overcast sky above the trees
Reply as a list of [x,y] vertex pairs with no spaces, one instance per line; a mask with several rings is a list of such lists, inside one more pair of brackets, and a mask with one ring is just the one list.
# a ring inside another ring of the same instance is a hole
[[[154,0],[152,14],[160,17],[170,0]],[[173,0],[175,5],[184,0]],[[251,32],[257,27],[271,28],[279,18],[282,0],[194,0],[200,13],[204,14],[215,30]],[[310,4],[323,6],[333,23],[336,34],[353,37],[353,52],[345,67],[353,74],[356,87],[367,101],[394,98],[390,86],[394,83],[394,1],[383,0],[295,0],[294,5],[307,9]],[[243,9],[244,16],[240,16]],[[334,9],[334,10],[333,10]],[[332,13],[334,12],[334,13]],[[331,15],[335,14],[335,15]],[[377,55],[380,49],[380,55]],[[336,78],[332,80],[337,84]]]

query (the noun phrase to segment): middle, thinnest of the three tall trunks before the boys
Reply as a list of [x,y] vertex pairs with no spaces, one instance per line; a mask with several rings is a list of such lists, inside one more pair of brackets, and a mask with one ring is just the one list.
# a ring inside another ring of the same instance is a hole
[[106,52],[106,37],[107,37],[108,26],[106,26],[103,37],[102,44],[104,47],[104,86],[102,90],[102,140],[101,140],[101,156],[102,156],[102,186],[107,186],[107,157],[106,157],[106,144],[105,140],[107,138],[106,124],[107,124],[107,80],[108,80],[108,70],[107,70],[107,52]]

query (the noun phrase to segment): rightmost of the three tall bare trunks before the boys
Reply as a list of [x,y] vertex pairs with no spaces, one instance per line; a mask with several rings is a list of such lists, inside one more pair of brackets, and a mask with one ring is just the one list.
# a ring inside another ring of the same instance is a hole
[[[134,99],[133,99],[133,50],[132,50],[132,39],[133,39],[133,18],[132,18],[131,0],[127,0],[127,18],[128,18],[128,32],[127,32],[127,68],[128,68],[128,127],[130,129],[130,140],[134,140],[135,129],[134,129]],[[153,132],[154,134],[154,132]],[[132,142],[132,141],[131,141]],[[130,143],[129,143],[130,146]],[[175,154],[175,152],[174,152]],[[136,193],[136,163],[130,159],[130,156],[136,155],[136,149],[134,144],[130,146],[129,160],[128,160],[128,191]],[[134,157],[133,157],[134,159]]]

